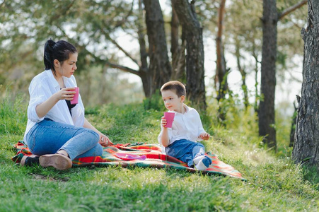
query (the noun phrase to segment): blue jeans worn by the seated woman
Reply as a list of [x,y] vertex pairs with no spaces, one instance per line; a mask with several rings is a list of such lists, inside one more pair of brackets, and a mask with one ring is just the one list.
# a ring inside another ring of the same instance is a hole
[[54,154],[64,150],[71,160],[103,154],[100,136],[91,129],[44,119],[30,129],[26,143],[34,155]]

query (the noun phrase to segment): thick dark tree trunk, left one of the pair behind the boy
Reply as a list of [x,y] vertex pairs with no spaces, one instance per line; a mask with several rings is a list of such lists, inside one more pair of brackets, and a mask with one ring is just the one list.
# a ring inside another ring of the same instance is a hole
[[149,78],[149,95],[152,95],[156,89],[163,86],[163,83],[170,80],[172,70],[168,59],[161,6],[158,0],[144,0],[144,6],[149,38],[149,70],[147,75]]

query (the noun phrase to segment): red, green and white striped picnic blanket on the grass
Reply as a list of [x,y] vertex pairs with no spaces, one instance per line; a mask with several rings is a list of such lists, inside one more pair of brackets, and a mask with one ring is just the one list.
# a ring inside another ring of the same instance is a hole
[[[18,141],[15,145],[16,155],[11,158],[13,162],[20,163],[23,155],[32,155],[28,146],[23,141]],[[211,158],[212,163],[209,168],[202,171],[206,175],[224,175],[236,177],[245,180],[238,170],[235,170],[231,165],[228,165],[216,155],[207,153]],[[103,155],[96,157],[77,158],[73,160],[73,166],[108,166],[120,165],[122,167],[137,166],[137,167],[157,167],[157,168],[174,168],[177,170],[187,170],[188,172],[199,172],[194,168],[188,167],[181,160],[165,155],[161,152],[161,146],[158,144],[146,143],[117,143],[103,149]]]

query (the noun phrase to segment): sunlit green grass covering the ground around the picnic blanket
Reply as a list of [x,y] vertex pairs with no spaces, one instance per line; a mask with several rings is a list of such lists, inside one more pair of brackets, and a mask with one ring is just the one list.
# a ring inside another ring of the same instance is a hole
[[[291,161],[291,150],[284,148],[289,136],[279,135],[279,153],[260,146],[255,115],[249,112],[229,112],[226,127],[216,122],[214,105],[202,116],[214,136],[204,141],[207,151],[239,170],[247,182],[141,167],[62,172],[12,162],[13,144],[25,130],[23,99],[6,99],[0,105],[0,211],[318,211],[318,172]],[[157,143],[163,111],[146,109],[145,104],[111,104],[88,108],[87,113],[114,143]]]

